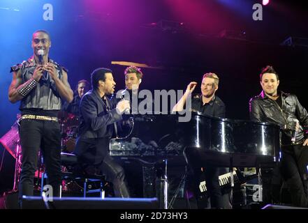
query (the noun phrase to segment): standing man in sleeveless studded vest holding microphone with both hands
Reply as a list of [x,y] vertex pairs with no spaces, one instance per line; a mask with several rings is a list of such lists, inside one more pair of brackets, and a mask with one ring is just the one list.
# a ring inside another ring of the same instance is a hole
[[20,205],[23,195],[33,195],[40,148],[52,195],[57,197],[60,192],[61,134],[57,112],[61,109],[61,98],[67,102],[73,100],[73,91],[68,84],[65,68],[48,57],[50,46],[49,33],[36,31],[32,36],[34,55],[10,68],[13,79],[8,89],[8,99],[12,103],[20,101],[22,114],[18,121],[22,146]]

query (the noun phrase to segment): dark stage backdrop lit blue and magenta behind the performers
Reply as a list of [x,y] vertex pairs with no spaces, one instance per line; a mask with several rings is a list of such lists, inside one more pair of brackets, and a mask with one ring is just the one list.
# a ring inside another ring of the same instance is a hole
[[[43,20],[43,5],[53,20]],[[249,0],[105,0],[0,2],[0,136],[16,120],[19,103],[8,102],[10,66],[31,56],[31,34],[46,29],[50,56],[68,68],[75,88],[98,67],[111,68],[117,90],[124,87],[124,66],[111,61],[146,63],[142,89],[186,89],[215,72],[217,95],[227,117],[248,119],[248,102],[261,92],[258,74],[270,64],[279,72],[280,89],[295,93],[308,107],[306,46],[281,45],[286,38],[308,38],[307,8],[295,1],[270,1],[263,20],[254,21]],[[163,22],[161,22],[163,21]],[[221,37],[228,30],[232,36]],[[231,38],[232,37],[232,38]],[[240,38],[240,39],[239,39]],[[0,192],[13,187],[14,162],[0,146]]]

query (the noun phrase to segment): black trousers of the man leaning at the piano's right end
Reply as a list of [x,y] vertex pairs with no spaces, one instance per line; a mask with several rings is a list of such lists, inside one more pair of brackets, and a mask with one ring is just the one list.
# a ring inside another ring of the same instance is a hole
[[293,206],[308,206],[307,165],[308,146],[282,146],[281,176],[291,194]]

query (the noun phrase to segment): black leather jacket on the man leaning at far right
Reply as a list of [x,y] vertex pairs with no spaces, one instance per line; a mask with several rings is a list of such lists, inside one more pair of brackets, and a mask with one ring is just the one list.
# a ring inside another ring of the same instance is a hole
[[307,137],[308,114],[300,105],[296,95],[281,91],[282,107],[276,101],[268,98],[262,91],[260,95],[249,101],[249,113],[252,121],[275,123],[281,127],[281,143],[290,144],[295,130],[295,121],[299,121],[300,130],[296,134],[296,141]]

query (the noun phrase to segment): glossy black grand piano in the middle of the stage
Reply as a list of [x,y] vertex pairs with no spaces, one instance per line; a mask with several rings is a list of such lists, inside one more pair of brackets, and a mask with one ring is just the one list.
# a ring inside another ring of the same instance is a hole
[[[167,172],[168,164],[183,160],[193,168],[211,164],[233,169],[270,167],[279,159],[278,125],[214,118],[198,112],[192,112],[188,122],[180,122],[179,117],[179,114],[129,116],[126,135],[110,140],[110,155],[122,160],[139,160],[144,169],[145,187],[152,185],[148,182],[154,180],[151,177],[155,176],[153,167],[157,163],[165,164],[163,168]],[[166,172],[162,175],[165,186]]]

